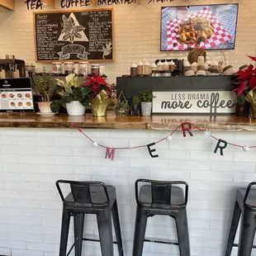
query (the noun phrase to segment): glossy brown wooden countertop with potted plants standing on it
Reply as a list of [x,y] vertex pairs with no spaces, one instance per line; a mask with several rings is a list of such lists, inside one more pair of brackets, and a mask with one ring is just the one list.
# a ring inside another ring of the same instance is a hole
[[248,116],[116,116],[109,112],[105,117],[67,116],[58,114],[53,118],[36,114],[0,114],[0,127],[26,128],[71,128],[76,123],[80,128],[93,129],[140,129],[173,130],[183,121],[192,122],[207,130],[256,130],[256,119]]

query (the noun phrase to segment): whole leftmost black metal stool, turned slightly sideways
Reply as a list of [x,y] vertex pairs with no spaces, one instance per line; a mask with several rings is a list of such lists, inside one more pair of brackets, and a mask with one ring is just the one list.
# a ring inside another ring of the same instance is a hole
[[[71,192],[69,192],[69,195],[65,198],[59,183],[67,183],[70,185]],[[116,203],[116,188],[98,182],[74,182],[67,180],[57,181],[56,186],[63,201],[59,256],[68,256],[73,247],[75,248],[75,256],[81,256],[83,240],[100,242],[102,256],[113,256],[111,215],[116,230],[117,242],[114,243],[118,246],[119,255],[123,256],[121,229]],[[83,238],[84,214],[97,215],[99,240]],[[74,244],[67,254],[71,216],[73,216]]]

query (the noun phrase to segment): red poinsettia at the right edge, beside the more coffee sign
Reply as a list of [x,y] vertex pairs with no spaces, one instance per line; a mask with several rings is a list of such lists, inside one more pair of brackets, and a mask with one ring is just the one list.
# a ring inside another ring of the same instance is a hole
[[252,64],[254,61],[256,61],[256,57],[248,57],[252,61],[247,69],[242,69],[234,73],[239,75],[239,77],[235,78],[235,82],[238,84],[238,88],[235,88],[233,92],[237,94],[237,99],[240,103],[244,103],[247,93],[256,88],[256,69],[254,68],[254,64]]

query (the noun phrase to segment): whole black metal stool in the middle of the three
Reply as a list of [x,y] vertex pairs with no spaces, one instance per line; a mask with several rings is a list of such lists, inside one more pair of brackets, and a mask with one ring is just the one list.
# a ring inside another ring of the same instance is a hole
[[[143,185],[138,192],[139,183]],[[183,188],[173,187],[173,184],[185,185],[184,198]],[[184,182],[161,182],[148,179],[138,179],[135,182],[135,197],[137,212],[135,220],[135,238],[133,244],[133,256],[141,256],[144,242],[179,245],[181,256],[190,256],[190,246],[187,228],[187,195],[188,185]],[[178,243],[145,239],[145,230],[148,217],[155,215],[171,216],[176,221]]]

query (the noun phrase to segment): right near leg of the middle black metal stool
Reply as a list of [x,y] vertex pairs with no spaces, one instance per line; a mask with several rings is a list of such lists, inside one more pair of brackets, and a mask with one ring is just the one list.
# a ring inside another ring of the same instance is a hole
[[178,235],[178,246],[181,256],[190,256],[190,246],[187,227],[187,211],[178,211],[175,216]]

